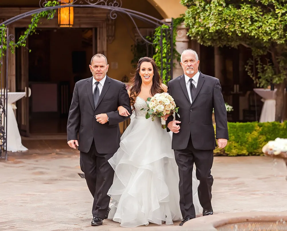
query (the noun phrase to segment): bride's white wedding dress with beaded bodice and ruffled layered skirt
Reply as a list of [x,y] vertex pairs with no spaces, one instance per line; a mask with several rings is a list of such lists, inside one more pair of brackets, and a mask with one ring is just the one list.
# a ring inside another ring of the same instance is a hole
[[[182,219],[179,207],[179,172],[171,149],[171,132],[161,128],[160,118],[146,119],[147,104],[135,101],[135,118],[121,136],[120,148],[108,161],[115,170],[108,219],[123,227],[173,224]],[[144,110],[140,110],[145,108]],[[193,170],[193,203],[199,213]]]

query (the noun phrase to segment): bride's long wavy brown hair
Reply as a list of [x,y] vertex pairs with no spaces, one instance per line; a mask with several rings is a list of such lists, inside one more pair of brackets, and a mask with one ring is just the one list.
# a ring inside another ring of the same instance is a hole
[[[156,63],[152,58],[149,57],[142,57],[139,59],[139,62],[137,63],[137,70],[135,72],[135,75],[131,80],[129,81],[129,85],[132,86],[129,90],[131,91],[130,94],[130,104],[133,107],[135,104],[135,99],[141,92],[141,76],[139,75],[139,71],[141,68],[141,64],[143,62],[150,62],[152,64],[152,68],[154,71],[154,76],[152,77],[152,87],[150,89],[150,95],[155,95],[156,93],[163,93],[164,90],[161,87],[162,79],[160,77],[160,74],[158,72],[158,67],[156,66]],[[133,109],[134,110],[134,109]]]

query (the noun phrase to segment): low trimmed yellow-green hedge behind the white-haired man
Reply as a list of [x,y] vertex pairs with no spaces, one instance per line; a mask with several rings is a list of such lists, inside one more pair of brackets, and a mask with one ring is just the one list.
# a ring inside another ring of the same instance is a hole
[[[215,130],[215,125],[214,125]],[[228,122],[229,140],[225,148],[216,148],[214,155],[263,155],[262,147],[277,137],[287,138],[287,121],[279,122]]]

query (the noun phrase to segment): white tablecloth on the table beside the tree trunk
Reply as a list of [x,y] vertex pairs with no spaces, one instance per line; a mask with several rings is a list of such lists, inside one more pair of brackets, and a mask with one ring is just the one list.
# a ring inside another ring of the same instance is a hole
[[275,109],[276,109],[276,90],[254,88],[258,95],[264,99],[259,122],[273,122],[275,121]]

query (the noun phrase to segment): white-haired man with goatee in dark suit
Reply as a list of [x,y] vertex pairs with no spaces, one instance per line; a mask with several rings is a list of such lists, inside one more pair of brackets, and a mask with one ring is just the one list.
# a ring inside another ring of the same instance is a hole
[[167,119],[167,131],[172,131],[172,149],[179,167],[180,208],[184,222],[195,218],[192,199],[192,169],[196,166],[199,180],[198,197],[203,216],[213,214],[211,167],[216,146],[212,111],[216,121],[216,139],[219,148],[228,140],[225,103],[219,80],[198,71],[199,60],[194,50],[184,50],[180,62],[184,75],[169,81],[168,93],[179,107],[175,120]]

